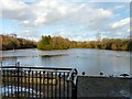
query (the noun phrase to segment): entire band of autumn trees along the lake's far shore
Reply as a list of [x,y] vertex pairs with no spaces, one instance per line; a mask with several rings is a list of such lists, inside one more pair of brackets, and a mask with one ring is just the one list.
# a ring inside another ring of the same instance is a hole
[[43,51],[68,48],[99,48],[114,51],[132,51],[132,40],[103,38],[101,41],[77,42],[62,36],[43,35],[41,41],[34,42],[8,35],[0,35],[0,50],[38,48]]

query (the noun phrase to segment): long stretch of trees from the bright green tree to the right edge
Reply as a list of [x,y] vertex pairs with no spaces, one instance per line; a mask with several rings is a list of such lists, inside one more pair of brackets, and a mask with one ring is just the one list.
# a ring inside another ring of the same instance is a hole
[[101,41],[76,42],[62,36],[43,35],[37,43],[38,50],[99,48],[113,51],[132,51],[132,40],[103,38]]

